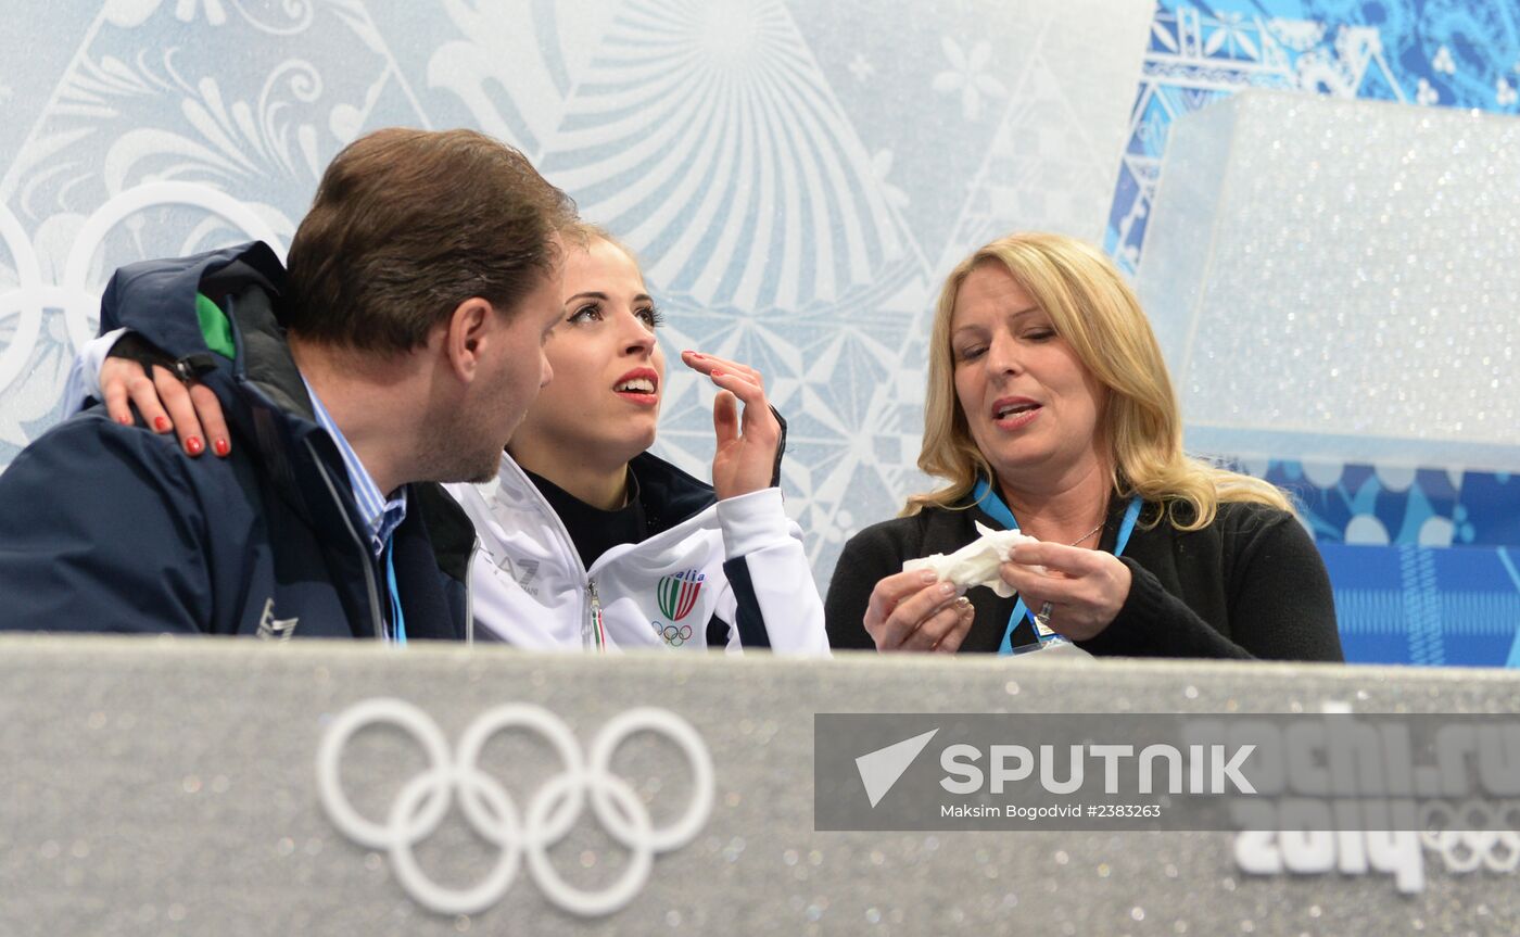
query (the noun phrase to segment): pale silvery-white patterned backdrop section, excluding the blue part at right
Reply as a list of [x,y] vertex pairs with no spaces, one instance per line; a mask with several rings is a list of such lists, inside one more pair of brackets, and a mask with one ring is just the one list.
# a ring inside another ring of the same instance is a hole
[[[667,351],[763,370],[790,423],[789,510],[827,583],[844,538],[924,485],[939,269],[1015,227],[1102,237],[1151,14],[12,3],[11,35],[46,50],[0,64],[0,464],[61,415],[111,269],[248,237],[281,249],[356,135],[474,126],[640,254]],[[658,452],[705,476],[713,391],[679,368],[667,386]]]

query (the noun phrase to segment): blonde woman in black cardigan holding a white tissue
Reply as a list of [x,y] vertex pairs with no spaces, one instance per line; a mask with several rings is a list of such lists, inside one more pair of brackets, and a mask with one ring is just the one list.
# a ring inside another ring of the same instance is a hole
[[[918,465],[944,487],[853,537],[834,648],[996,651],[1059,634],[1093,654],[1341,660],[1324,563],[1284,494],[1183,453],[1160,347],[1099,251],[1012,234],[939,294]],[[976,523],[1040,540],[958,596],[903,561]]]

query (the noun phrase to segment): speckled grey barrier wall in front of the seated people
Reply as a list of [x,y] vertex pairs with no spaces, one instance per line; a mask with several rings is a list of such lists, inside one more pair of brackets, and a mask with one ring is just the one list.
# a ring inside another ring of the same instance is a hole
[[[1520,712],[1500,671],[1041,657],[0,639],[0,934],[1520,929],[1502,850],[1427,850],[1408,893],[1251,875],[1219,832],[813,831],[818,712]],[[409,729],[345,739],[368,715]],[[593,779],[581,812],[564,759]]]

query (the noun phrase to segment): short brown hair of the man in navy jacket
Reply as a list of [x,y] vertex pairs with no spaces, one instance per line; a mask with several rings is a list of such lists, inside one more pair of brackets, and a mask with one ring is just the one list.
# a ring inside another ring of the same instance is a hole
[[553,271],[575,202],[511,146],[389,128],[322,173],[290,242],[284,321],[306,341],[410,351],[473,297],[506,313]]

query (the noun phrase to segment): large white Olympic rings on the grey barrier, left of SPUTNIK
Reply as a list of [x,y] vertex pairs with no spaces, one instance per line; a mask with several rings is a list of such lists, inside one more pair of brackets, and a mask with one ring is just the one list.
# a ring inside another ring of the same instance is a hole
[[[409,733],[427,754],[429,768],[401,786],[383,823],[362,817],[350,803],[339,777],[339,764],[348,741],[369,726],[394,726]],[[527,802],[524,811],[477,759],[485,744],[499,732],[523,729],[541,735],[559,754],[564,771]],[[686,754],[695,792],[686,812],[664,827],[655,827],[644,803],[632,786],[611,771],[614,751],[638,732],[663,735]],[[526,856],[527,873],[544,896],[564,911],[585,917],[620,910],[649,881],[654,855],[690,843],[713,809],[713,759],[702,736],[692,724],[667,709],[629,709],[610,719],[588,753],[570,727],[556,715],[526,703],[497,706],[477,716],[459,736],[459,748],[448,751],[448,739],[427,713],[395,698],[375,698],[344,710],[316,751],[316,789],[328,818],[348,838],[369,849],[385,850],[401,888],[416,904],[439,914],[477,914],[496,905],[511,888]],[[459,792],[465,821],[502,856],[479,884],[448,888],[432,881],[416,862],[412,849],[432,835]],[[585,891],[567,884],[549,859],[549,849],[575,826],[590,799],[591,812],[613,840],[629,849],[623,875],[600,891]]]

